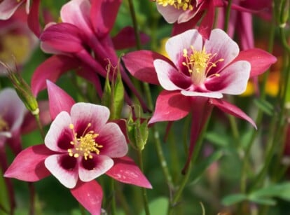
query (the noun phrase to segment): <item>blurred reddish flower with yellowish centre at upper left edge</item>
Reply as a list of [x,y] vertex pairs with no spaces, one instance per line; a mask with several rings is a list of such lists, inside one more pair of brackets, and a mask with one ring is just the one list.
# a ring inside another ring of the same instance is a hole
[[[0,12],[1,13],[1,12]],[[0,20],[0,60],[9,67],[21,67],[32,55],[37,38],[27,26],[27,14],[20,8],[9,20]],[[6,68],[0,65],[0,76]]]

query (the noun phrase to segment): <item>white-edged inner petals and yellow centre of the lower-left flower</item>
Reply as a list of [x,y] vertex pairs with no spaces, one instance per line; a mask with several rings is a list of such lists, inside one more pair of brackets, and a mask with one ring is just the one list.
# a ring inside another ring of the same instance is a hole
[[45,144],[56,153],[45,165],[67,188],[74,188],[78,179],[92,181],[111,169],[112,158],[127,153],[123,133],[116,123],[106,123],[108,119],[105,106],[78,103],[70,116],[63,111],[50,126]]

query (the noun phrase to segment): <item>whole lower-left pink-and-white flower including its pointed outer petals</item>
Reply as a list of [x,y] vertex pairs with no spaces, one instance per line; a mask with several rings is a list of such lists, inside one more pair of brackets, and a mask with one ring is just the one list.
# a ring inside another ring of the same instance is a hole
[[22,151],[4,176],[39,181],[53,174],[91,214],[100,214],[102,188],[94,179],[102,174],[151,188],[134,161],[125,156],[125,136],[116,123],[108,122],[109,109],[96,104],[74,104],[71,97],[50,82],[48,93],[51,117],[55,120],[45,144]]

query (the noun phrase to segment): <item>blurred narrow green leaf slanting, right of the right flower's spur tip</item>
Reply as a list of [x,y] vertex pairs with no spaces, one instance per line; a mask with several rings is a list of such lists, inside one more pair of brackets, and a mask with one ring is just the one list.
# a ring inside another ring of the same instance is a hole
[[189,181],[191,181],[190,185],[198,182],[198,180],[200,179],[202,174],[205,172],[205,170],[207,170],[207,168],[210,165],[212,165],[212,163],[219,160],[222,156],[223,156],[222,151],[216,151],[216,152],[212,153],[212,155],[209,155],[207,158],[205,158],[200,163],[195,165],[193,167],[193,172],[191,173],[191,179],[189,180]]

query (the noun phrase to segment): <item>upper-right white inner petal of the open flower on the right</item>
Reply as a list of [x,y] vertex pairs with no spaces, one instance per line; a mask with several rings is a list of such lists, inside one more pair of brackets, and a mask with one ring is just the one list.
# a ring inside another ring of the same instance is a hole
[[216,67],[212,68],[211,71],[219,71],[219,69],[232,62],[240,52],[237,43],[221,29],[212,30],[209,40],[205,41],[205,50],[207,53],[215,55],[215,57],[212,57],[212,62],[223,59],[222,62],[216,62]]

